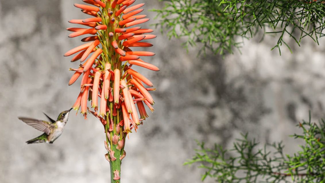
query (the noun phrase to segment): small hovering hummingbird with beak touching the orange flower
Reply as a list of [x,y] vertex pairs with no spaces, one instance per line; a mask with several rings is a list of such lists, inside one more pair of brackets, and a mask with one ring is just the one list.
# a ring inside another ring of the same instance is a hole
[[18,119],[20,119],[24,123],[36,128],[39,131],[44,132],[44,134],[31,140],[28,140],[26,143],[33,144],[46,142],[52,144],[62,134],[64,126],[68,122],[69,112],[71,110],[72,108],[67,111],[62,111],[56,121],[43,112],[48,118],[49,122],[32,118],[18,117]]

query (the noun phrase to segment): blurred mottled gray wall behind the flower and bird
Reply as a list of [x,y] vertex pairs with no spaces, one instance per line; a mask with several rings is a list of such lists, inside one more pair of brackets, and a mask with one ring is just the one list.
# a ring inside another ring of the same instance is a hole
[[[139,3],[142,1],[139,1]],[[56,118],[69,109],[79,93],[80,79],[68,87],[78,63],[63,54],[78,45],[68,38],[67,21],[87,18],[73,3],[80,0],[0,0],[0,182],[109,182],[102,125],[89,115],[72,112],[62,136],[54,144],[27,145],[41,132],[17,119]],[[163,3],[147,1],[146,10]],[[155,13],[146,12],[149,18]],[[153,20],[153,19],[152,19]],[[153,20],[154,23],[158,20]],[[150,27],[149,23],[142,27]],[[150,27],[154,28],[154,27]],[[323,117],[324,40],[320,46],[305,40],[302,47],[284,46],[282,56],[270,51],[277,39],[244,40],[242,54],[224,59],[208,53],[187,53],[179,40],[158,35],[147,59],[160,72],[138,69],[158,91],[152,92],[156,111],[130,134],[122,163],[122,182],[200,182],[202,170],[183,166],[194,155],[195,139],[230,148],[240,133],[262,143],[283,140],[285,152],[299,150],[288,137],[298,133],[298,121]],[[288,37],[286,37],[289,40]],[[239,39],[240,41],[240,39]],[[200,46],[200,45],[199,45]],[[207,179],[206,182],[213,182]]]

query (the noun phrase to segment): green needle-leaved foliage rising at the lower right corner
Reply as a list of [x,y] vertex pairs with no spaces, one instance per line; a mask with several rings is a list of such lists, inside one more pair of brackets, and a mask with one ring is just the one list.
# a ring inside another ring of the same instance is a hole
[[[233,144],[233,149],[224,150],[215,144],[213,149],[205,148],[198,143],[200,149],[185,164],[201,163],[205,169],[202,176],[215,178],[216,182],[325,182],[325,122],[319,124],[303,121],[297,125],[302,134],[291,137],[305,141],[301,150],[293,155],[284,155],[282,143],[265,145],[258,149],[258,142],[242,135]],[[271,147],[273,150],[266,150]]]

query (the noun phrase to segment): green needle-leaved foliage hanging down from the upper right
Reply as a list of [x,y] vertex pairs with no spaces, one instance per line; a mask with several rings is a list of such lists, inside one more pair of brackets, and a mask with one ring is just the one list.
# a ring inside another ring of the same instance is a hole
[[[292,52],[286,35],[299,46],[310,37],[317,44],[323,36],[325,1],[322,0],[170,0],[163,9],[154,9],[161,20],[156,26],[171,37],[186,37],[185,47],[203,46],[214,54],[233,53],[242,42],[239,37],[252,38],[263,31],[275,34],[274,48],[285,45]],[[271,31],[268,31],[271,30]]]

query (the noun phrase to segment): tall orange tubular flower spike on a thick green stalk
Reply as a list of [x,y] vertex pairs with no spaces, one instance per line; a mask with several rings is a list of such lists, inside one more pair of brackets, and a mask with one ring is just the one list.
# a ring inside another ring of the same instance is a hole
[[[131,69],[132,65],[153,71],[159,68],[140,57],[153,56],[149,51],[132,51],[132,47],[149,47],[143,40],[155,38],[151,29],[132,27],[148,21],[146,15],[138,15],[144,3],[133,5],[135,0],[83,0],[87,5],[74,4],[92,17],[74,19],[70,23],[88,28],[67,28],[69,37],[85,35],[81,46],[72,48],[64,56],[75,56],[72,62],[82,62],[74,71],[69,85],[82,75],[80,93],[72,106],[87,119],[87,113],[94,115],[103,124],[107,150],[106,160],[110,162],[112,183],[120,183],[121,163],[126,153],[124,145],[128,133],[148,117],[144,104],[151,111],[154,104],[148,91],[155,90],[153,84],[142,74]],[[89,35],[92,34],[92,35]],[[100,101],[98,101],[100,99]],[[87,107],[90,100],[91,108]],[[136,108],[137,106],[137,108]],[[99,111],[98,111],[99,109]]]

